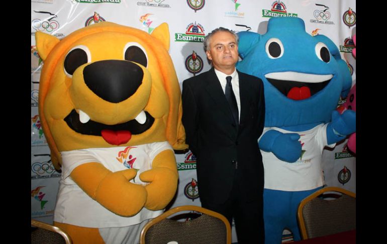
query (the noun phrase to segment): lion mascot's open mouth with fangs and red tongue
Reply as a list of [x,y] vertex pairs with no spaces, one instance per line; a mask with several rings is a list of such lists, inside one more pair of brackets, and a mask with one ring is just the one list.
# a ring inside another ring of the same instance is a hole
[[77,113],[73,109],[64,121],[75,132],[102,136],[109,144],[121,145],[127,143],[132,135],[148,130],[153,125],[154,118],[147,111],[141,111],[134,120],[117,125],[105,125],[90,120],[83,111],[79,110]]

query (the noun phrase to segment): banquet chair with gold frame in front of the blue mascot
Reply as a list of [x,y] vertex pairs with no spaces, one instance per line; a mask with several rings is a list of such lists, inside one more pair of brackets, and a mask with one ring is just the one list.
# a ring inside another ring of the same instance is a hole
[[322,188],[301,201],[297,217],[303,239],[356,229],[356,194]]

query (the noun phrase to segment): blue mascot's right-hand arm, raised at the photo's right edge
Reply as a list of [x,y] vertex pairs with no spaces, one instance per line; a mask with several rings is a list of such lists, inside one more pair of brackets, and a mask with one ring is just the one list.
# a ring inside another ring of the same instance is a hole
[[328,144],[344,139],[347,135],[356,131],[356,112],[345,110],[343,114],[332,112],[332,122],[327,127]]

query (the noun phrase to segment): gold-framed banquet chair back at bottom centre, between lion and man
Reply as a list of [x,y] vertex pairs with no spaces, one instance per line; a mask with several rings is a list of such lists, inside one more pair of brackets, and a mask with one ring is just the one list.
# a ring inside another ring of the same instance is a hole
[[[184,211],[196,213],[182,214]],[[174,214],[178,215],[172,217]],[[179,221],[181,218],[185,220]],[[179,206],[150,220],[140,234],[140,244],[165,244],[169,241],[178,244],[230,244],[231,226],[226,217],[217,212],[192,205]]]

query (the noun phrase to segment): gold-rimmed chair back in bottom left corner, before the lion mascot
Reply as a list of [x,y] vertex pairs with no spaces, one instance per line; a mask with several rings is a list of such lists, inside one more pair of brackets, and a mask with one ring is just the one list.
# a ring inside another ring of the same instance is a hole
[[72,244],[70,236],[61,228],[31,219],[31,244]]

